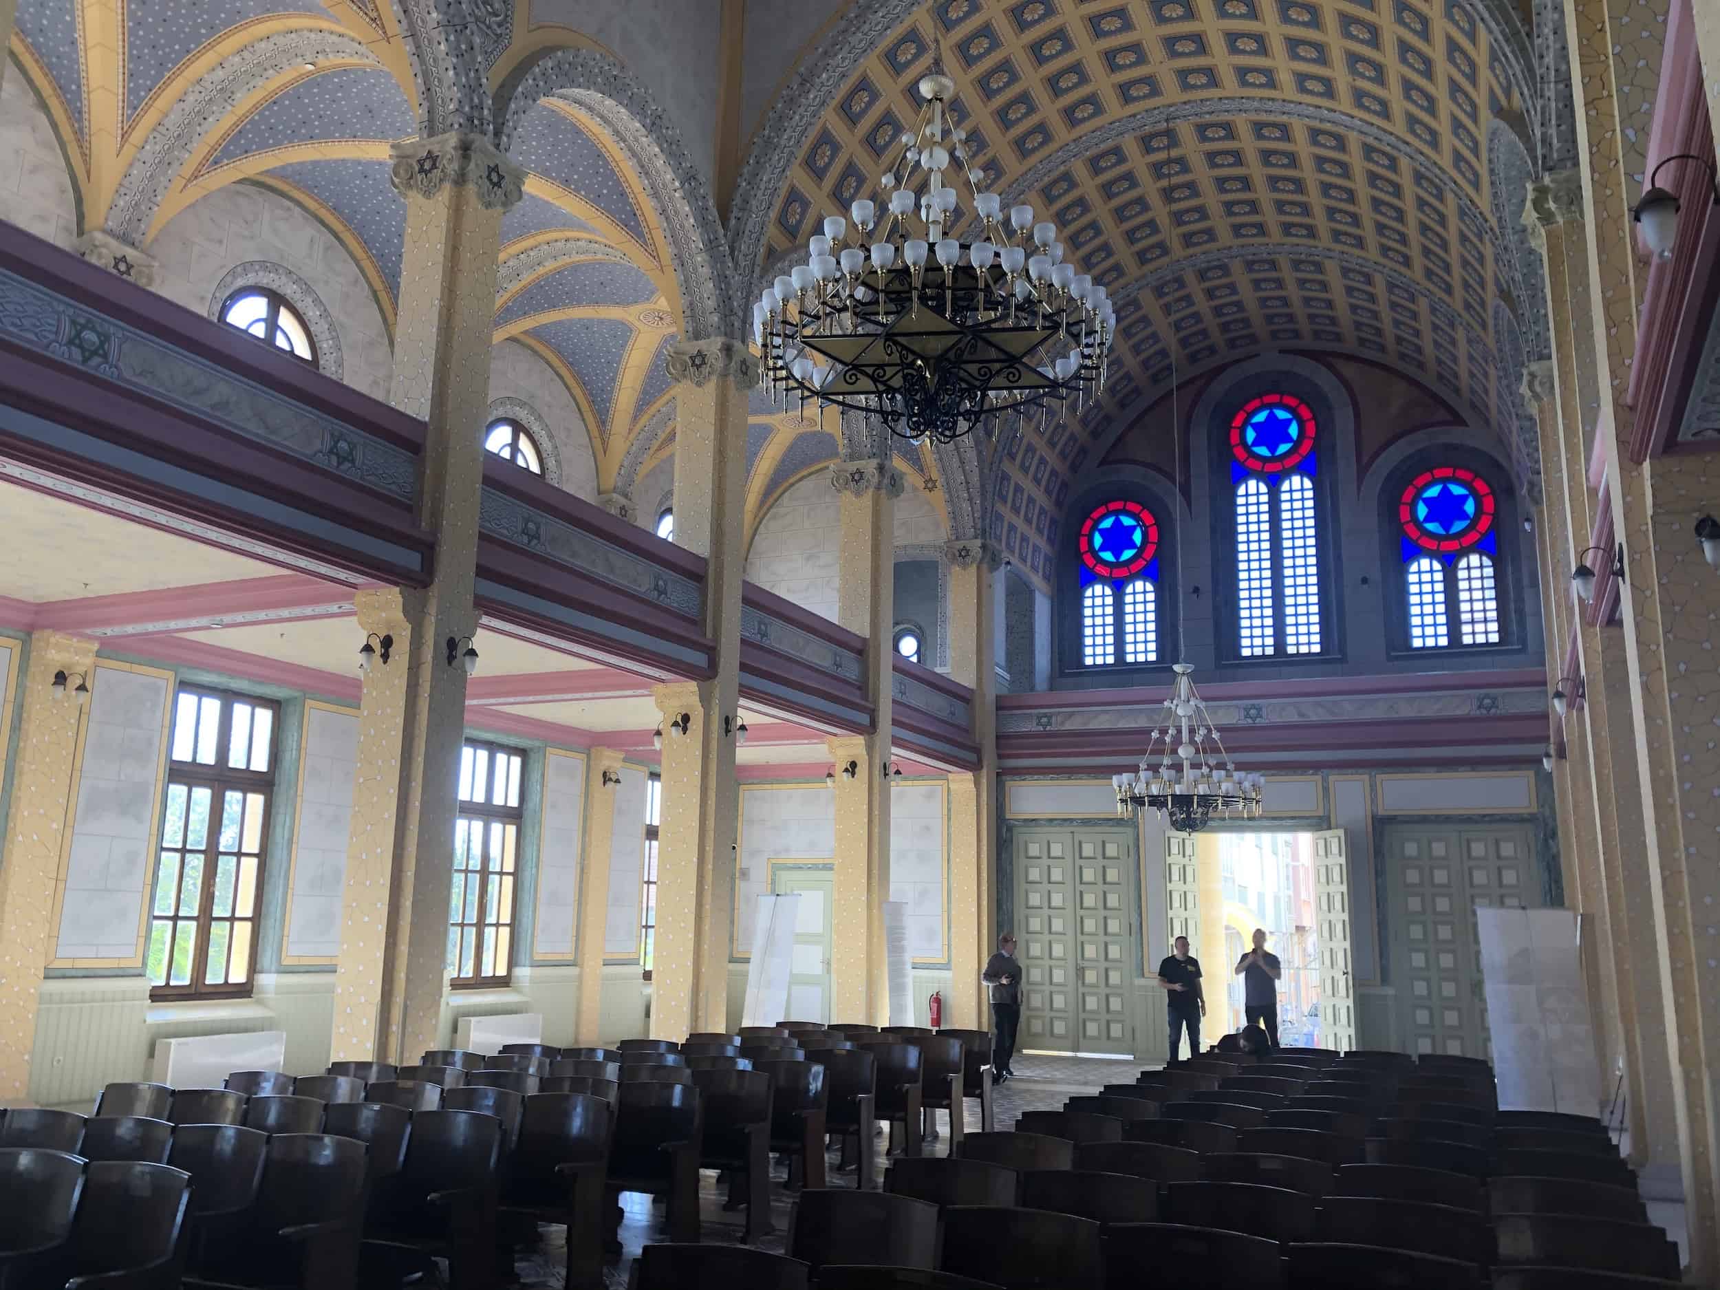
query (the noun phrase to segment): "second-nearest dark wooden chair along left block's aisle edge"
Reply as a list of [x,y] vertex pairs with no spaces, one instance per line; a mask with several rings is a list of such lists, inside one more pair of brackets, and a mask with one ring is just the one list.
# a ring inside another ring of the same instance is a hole
[[[688,1078],[691,1072],[681,1068]],[[645,1192],[669,1201],[669,1238],[698,1240],[698,1154],[703,1108],[691,1084],[623,1080],[609,1147],[612,1192]],[[621,1211],[611,1211],[619,1221]],[[609,1233],[611,1242],[614,1232]]]

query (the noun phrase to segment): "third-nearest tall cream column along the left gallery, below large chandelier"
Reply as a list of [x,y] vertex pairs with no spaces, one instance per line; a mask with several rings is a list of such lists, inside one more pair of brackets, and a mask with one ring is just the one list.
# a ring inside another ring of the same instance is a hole
[[[829,740],[836,762],[836,927],[832,1020],[889,1023],[884,901],[889,900],[891,660],[894,647],[894,511],[901,471],[888,459],[838,461],[843,554],[836,621],[867,638],[862,673],[872,731]],[[845,767],[853,765],[853,777]]]

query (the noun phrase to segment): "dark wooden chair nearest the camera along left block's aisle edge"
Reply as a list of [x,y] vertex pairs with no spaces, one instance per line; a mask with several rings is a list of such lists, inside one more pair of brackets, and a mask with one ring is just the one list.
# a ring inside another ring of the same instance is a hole
[[604,1192],[614,1113],[578,1092],[523,1099],[519,1135],[509,1158],[502,1204],[568,1230],[569,1290],[604,1285]]

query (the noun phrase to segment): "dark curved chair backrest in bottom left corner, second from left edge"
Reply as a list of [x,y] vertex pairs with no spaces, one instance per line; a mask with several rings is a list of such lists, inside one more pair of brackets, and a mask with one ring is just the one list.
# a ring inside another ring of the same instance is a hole
[[191,1175],[144,1161],[93,1161],[84,1168],[67,1240],[74,1276],[139,1271],[165,1264],[134,1285],[177,1285],[174,1256],[191,1201]]

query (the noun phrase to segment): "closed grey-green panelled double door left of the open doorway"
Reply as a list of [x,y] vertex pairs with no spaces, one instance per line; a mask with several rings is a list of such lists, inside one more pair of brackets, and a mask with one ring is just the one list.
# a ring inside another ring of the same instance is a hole
[[1133,1053],[1133,870],[1127,829],[1017,831],[1022,1049]]

